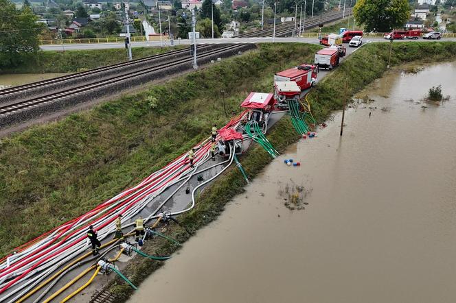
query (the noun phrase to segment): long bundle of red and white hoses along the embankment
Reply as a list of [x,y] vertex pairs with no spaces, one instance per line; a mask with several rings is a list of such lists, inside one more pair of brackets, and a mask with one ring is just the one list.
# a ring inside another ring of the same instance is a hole
[[[244,116],[242,113],[241,117]],[[231,120],[225,128],[236,129],[239,125],[240,117]],[[196,167],[190,167],[186,154],[176,158],[169,165],[152,173],[148,178],[144,179],[137,186],[120,193],[119,195],[109,199],[99,206],[90,210],[89,213],[80,217],[67,221],[62,226],[54,228],[40,237],[16,247],[15,254],[2,258],[0,260],[0,301],[5,302],[10,298],[9,302],[23,302],[30,295],[42,289],[45,285],[51,283],[54,279],[60,279],[72,269],[80,266],[85,258],[89,258],[91,253],[85,253],[89,248],[86,231],[89,225],[93,225],[98,231],[98,239],[102,241],[109,237],[109,234],[115,231],[114,221],[120,213],[125,221],[134,219],[152,199],[157,197],[170,188],[174,184],[180,184],[178,188],[170,194],[157,208],[151,213],[145,222],[150,219],[157,218],[157,213],[164,204],[178,191],[181,187],[192,178],[196,173],[201,173],[207,169],[212,169],[218,165],[226,165],[213,178],[196,186],[192,192],[192,204],[183,210],[170,213],[170,215],[179,215],[191,210],[195,205],[195,191],[214,180],[220,173],[223,173],[233,162],[233,154],[229,159],[198,170],[198,167],[207,162],[210,158],[209,139],[197,145],[196,157],[194,164]],[[232,149],[230,149],[232,150]],[[124,228],[132,226],[133,223],[126,224]],[[102,247],[110,247],[111,250],[116,241],[104,243]],[[82,255],[81,255],[82,254]],[[105,253],[104,253],[105,254]],[[60,267],[59,271],[57,271]],[[57,271],[57,273],[56,273]],[[47,278],[49,277],[50,278]],[[47,280],[45,280],[47,278]],[[43,282],[44,280],[44,282]],[[54,283],[53,283],[54,284]],[[47,291],[50,290],[47,289]],[[46,291],[46,292],[47,292]],[[41,297],[42,298],[42,297]]]

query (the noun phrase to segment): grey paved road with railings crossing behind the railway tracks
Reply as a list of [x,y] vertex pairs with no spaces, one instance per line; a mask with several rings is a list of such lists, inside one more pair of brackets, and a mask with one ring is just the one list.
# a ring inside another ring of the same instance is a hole
[[[365,38],[365,42],[389,42],[383,38]],[[394,40],[394,43],[402,43],[411,40]],[[419,41],[431,42],[435,40]],[[444,38],[441,41],[456,41],[456,38]],[[198,45],[202,44],[222,44],[222,43],[312,43],[319,44],[317,38],[272,38],[272,37],[254,37],[254,38],[217,38],[217,39],[198,39]],[[159,47],[160,41],[144,41],[133,42],[132,47]],[[163,44],[164,45],[164,44]],[[175,45],[190,45],[190,40],[176,40]],[[74,44],[74,45],[41,45],[43,51],[61,51],[65,50],[82,50],[82,49],[122,49],[124,43],[87,43],[87,44]]]

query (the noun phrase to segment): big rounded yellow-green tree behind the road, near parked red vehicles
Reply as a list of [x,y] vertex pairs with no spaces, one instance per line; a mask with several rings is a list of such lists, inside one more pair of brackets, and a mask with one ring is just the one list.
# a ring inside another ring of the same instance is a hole
[[359,25],[367,32],[389,32],[404,27],[409,20],[410,6],[407,0],[358,0],[353,9]]

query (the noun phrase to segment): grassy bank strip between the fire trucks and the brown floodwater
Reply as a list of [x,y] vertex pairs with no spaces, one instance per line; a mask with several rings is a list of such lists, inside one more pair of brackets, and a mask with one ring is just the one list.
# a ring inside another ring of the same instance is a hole
[[[394,45],[394,53],[391,57],[393,65],[406,62],[422,61],[422,52],[428,53],[426,62],[435,62],[456,58],[456,43],[407,43]],[[348,84],[348,95],[352,95],[363,89],[367,84],[381,77],[387,70],[387,60],[389,45],[387,43],[377,43],[375,45],[366,45],[353,56],[347,58],[341,66],[326,77],[325,80],[313,90],[310,99],[314,108],[314,115],[319,121],[324,121],[332,110],[339,110],[343,102],[343,79],[350,80]],[[317,98],[317,95],[319,96]],[[274,125],[268,138],[273,145],[280,151],[293,141],[297,136],[293,131],[290,120],[282,119]],[[255,145],[249,150],[246,156],[242,156],[241,162],[249,177],[255,176],[271,158],[266,151]],[[236,167],[231,167],[227,172],[220,176],[206,191],[201,194],[194,210],[183,215],[181,225],[185,226],[190,232],[198,230],[207,225],[210,221],[216,219],[218,214],[223,210],[229,200],[242,193],[244,182],[242,175]],[[171,226],[167,232],[170,237],[186,241],[190,234],[179,226]],[[179,247],[170,244],[168,241],[158,239],[153,243],[144,246],[144,252],[150,254],[172,254]],[[152,271],[159,268],[163,263],[146,260],[144,258],[134,258],[124,269],[124,273],[135,284],[141,283]],[[124,302],[133,291],[128,285],[119,279],[111,282],[109,290],[116,293],[118,302]]]

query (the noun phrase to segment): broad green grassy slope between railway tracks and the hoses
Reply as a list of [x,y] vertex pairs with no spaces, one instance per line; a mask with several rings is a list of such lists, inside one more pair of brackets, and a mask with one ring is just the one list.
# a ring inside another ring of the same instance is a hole
[[[144,92],[3,138],[0,254],[136,184],[225,125],[273,73],[312,62],[317,45],[260,45]],[[225,90],[229,117],[223,112]]]

